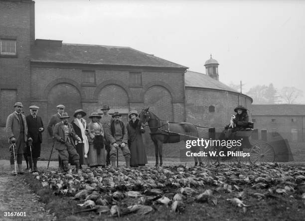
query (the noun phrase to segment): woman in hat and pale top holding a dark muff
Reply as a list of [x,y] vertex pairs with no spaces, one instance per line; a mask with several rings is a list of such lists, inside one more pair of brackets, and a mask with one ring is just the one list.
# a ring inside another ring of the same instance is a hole
[[88,166],[105,167],[104,130],[103,125],[99,122],[101,116],[97,112],[93,112],[89,118],[91,118],[91,122],[88,124]]

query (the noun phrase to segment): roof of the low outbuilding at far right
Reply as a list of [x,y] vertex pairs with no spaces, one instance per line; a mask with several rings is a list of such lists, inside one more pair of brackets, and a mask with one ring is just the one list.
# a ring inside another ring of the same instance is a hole
[[305,105],[252,105],[252,115],[305,115]]

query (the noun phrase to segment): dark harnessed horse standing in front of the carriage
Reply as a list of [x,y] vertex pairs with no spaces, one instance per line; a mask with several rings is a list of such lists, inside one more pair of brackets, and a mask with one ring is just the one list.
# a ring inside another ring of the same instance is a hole
[[[152,111],[143,109],[140,114],[140,122],[148,125],[151,129],[151,139],[154,144],[155,151],[155,167],[158,166],[158,156],[160,157],[160,164],[162,166],[162,145],[163,143],[177,143],[181,140],[186,141],[191,138],[198,138],[198,130],[196,126],[187,122],[168,122],[167,120],[162,120],[158,118]],[[199,152],[199,147],[191,147],[192,152]],[[198,159],[197,159],[198,158]],[[195,166],[202,165],[201,157],[194,157]]]

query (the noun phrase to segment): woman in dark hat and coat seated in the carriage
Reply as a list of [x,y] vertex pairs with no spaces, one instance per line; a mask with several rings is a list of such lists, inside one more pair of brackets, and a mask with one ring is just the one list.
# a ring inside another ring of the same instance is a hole
[[229,125],[225,127],[225,129],[227,129],[227,132],[225,134],[226,139],[230,139],[233,132],[245,130],[248,127],[249,115],[247,113],[247,109],[244,108],[244,106],[240,105],[237,106],[234,111],[236,112],[236,114],[235,119],[233,119],[233,122],[236,126],[234,128],[229,128]]

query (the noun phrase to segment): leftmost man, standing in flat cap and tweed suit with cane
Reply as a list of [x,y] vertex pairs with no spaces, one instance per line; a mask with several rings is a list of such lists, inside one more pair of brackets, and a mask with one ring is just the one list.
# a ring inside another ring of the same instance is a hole
[[[8,143],[15,143],[15,155],[17,155],[18,173],[22,174],[22,154],[27,140],[27,124],[25,116],[21,113],[23,105],[21,102],[17,102],[14,105],[15,111],[8,115],[6,120],[5,132],[8,137]],[[15,174],[14,170],[14,153],[10,148],[10,169],[11,174]]]

